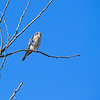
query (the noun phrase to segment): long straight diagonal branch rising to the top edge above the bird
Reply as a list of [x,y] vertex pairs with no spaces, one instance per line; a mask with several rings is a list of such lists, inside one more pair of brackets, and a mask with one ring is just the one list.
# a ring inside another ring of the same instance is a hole
[[[39,13],[39,15],[35,18],[35,19],[33,19],[9,44],[8,44],[8,47],[17,39],[17,37],[19,37],[34,21],[36,21],[40,16],[41,16],[41,14],[48,8],[48,6],[51,4],[51,2],[52,2],[53,0],[51,0],[48,4],[47,4],[47,6]],[[3,49],[2,49],[2,51],[1,52],[3,52],[4,51],[4,49],[5,49],[5,47],[6,46],[4,46],[3,47]]]

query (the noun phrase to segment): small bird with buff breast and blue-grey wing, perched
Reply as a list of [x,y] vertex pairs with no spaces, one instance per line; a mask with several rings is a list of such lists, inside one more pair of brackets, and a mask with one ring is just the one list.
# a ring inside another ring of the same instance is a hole
[[[35,51],[39,48],[40,46],[40,43],[41,43],[41,32],[36,32],[34,34],[34,36],[32,36],[29,40],[29,43],[28,43],[28,49],[27,50],[32,50],[32,51]],[[25,58],[32,53],[32,51],[26,51],[24,57],[22,58],[22,61],[25,60]]]

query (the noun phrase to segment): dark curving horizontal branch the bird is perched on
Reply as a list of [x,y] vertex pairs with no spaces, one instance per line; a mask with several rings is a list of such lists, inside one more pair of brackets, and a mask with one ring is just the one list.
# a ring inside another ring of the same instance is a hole
[[[32,50],[18,50],[18,51],[14,51],[14,52],[12,52],[12,53],[6,54],[5,56],[7,57],[7,56],[9,56],[9,55],[12,55],[12,54],[17,53],[17,52],[20,52],[20,51],[32,51]],[[52,58],[65,58],[65,59],[66,59],[66,58],[71,58],[71,57],[80,56],[80,54],[78,54],[78,55],[67,56],[67,57],[63,57],[63,56],[56,57],[56,56],[50,56],[50,55],[48,55],[48,54],[46,54],[46,53],[43,53],[43,52],[41,52],[41,51],[33,51],[33,52],[40,53],[40,54],[43,54],[43,55],[45,55],[45,56],[47,56],[47,57],[52,57]],[[4,55],[0,55],[0,57],[4,57]]]

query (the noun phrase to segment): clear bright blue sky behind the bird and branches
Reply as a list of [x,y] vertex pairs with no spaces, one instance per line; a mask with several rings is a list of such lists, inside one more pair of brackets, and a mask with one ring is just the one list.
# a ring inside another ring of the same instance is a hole
[[[0,1],[0,11],[6,2]],[[29,2],[18,33],[49,0]],[[27,0],[9,2],[5,20],[10,38],[26,5]],[[3,21],[0,27],[5,45],[7,35]],[[21,61],[24,51],[8,56],[0,71],[0,100],[8,100],[14,87],[21,82],[23,85],[16,93],[17,100],[100,100],[100,0],[53,0],[7,53],[27,49],[29,39],[37,31],[42,34],[39,51],[54,56],[81,56],[54,59],[32,53],[24,62]]]

